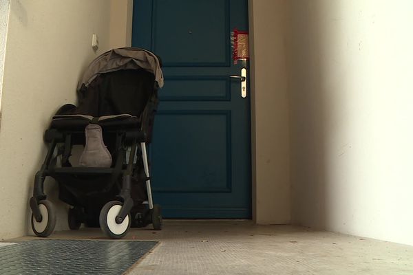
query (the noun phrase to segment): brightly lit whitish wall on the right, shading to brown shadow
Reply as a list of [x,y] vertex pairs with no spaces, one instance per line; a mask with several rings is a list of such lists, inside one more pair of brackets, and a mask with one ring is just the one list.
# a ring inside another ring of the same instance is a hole
[[293,221],[413,245],[413,2],[289,14]]

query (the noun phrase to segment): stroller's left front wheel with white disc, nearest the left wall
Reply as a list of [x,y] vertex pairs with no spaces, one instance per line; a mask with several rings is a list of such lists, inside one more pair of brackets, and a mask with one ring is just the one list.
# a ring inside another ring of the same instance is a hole
[[56,226],[56,212],[54,206],[50,201],[39,201],[39,209],[41,213],[41,221],[34,219],[32,214],[32,230],[36,236],[49,236],[52,234]]

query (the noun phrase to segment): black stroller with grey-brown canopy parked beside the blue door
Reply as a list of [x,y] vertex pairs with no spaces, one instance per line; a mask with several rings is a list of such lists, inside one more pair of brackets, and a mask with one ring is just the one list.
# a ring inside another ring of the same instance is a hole
[[[163,86],[160,67],[155,54],[131,47],[92,61],[78,85],[78,107],[63,105],[45,131],[48,151],[30,199],[34,234],[49,236],[56,225],[43,190],[47,176],[59,184],[59,199],[71,206],[71,230],[81,223],[100,225],[107,236],[120,239],[131,225],[162,228],[146,148]],[[78,165],[71,157],[75,145],[84,146]]]

